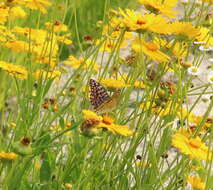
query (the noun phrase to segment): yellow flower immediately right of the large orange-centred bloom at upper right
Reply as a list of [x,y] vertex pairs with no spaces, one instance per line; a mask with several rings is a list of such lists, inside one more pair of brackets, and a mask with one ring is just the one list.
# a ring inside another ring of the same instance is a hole
[[176,35],[183,35],[190,39],[200,35],[200,30],[198,28],[195,28],[195,26],[193,26],[191,22],[175,21],[169,25],[171,33]]

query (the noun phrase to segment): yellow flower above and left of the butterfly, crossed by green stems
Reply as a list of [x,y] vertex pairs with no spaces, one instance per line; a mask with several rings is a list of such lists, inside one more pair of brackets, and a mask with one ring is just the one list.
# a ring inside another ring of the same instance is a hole
[[71,66],[75,69],[78,69],[79,67],[82,69],[92,69],[95,72],[97,72],[99,69],[99,65],[97,65],[91,59],[87,59],[85,61],[84,58],[77,59],[74,56],[69,56],[68,60],[64,61],[63,64]]

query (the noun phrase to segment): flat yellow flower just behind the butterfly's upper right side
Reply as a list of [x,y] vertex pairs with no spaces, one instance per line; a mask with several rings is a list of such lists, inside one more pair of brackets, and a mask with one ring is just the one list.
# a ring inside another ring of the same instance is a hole
[[129,84],[126,84],[123,80],[116,80],[112,78],[102,79],[100,83],[109,88],[125,88],[129,87]]

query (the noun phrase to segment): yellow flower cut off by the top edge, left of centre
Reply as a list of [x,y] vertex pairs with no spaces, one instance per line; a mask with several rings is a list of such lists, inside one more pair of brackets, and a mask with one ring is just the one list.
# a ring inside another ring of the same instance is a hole
[[40,10],[43,14],[47,13],[46,7],[52,5],[49,0],[14,0],[14,3],[24,5],[32,10]]

